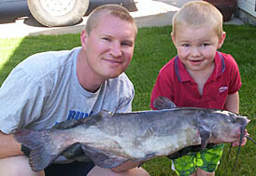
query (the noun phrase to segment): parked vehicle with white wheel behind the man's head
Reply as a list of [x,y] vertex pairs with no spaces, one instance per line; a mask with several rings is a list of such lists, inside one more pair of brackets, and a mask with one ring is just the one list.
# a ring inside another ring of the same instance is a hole
[[[0,0],[0,6],[24,0]],[[134,0],[25,0],[33,17],[49,27],[68,26],[78,23],[93,8],[104,4],[119,4],[135,11]]]

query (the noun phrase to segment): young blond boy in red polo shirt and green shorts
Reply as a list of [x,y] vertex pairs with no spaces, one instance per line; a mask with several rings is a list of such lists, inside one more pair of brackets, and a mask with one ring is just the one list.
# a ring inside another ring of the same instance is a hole
[[[173,18],[172,40],[178,50],[161,69],[151,94],[151,104],[164,96],[177,106],[239,111],[238,66],[229,54],[218,52],[225,39],[220,11],[206,2],[185,4]],[[242,145],[246,143],[243,139]],[[235,142],[234,145],[237,145]],[[173,160],[180,175],[214,175],[223,144]]]

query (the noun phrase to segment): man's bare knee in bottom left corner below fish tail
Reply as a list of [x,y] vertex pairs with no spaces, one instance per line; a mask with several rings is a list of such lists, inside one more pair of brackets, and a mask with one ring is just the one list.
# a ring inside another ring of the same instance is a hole
[[27,156],[12,156],[0,158],[0,175],[44,176],[44,171],[33,171]]

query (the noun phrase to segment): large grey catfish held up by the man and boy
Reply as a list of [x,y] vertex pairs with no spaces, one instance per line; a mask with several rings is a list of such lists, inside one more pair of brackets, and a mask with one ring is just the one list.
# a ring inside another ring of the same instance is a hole
[[187,146],[236,142],[249,123],[247,117],[228,111],[175,108],[167,98],[156,99],[154,106],[162,110],[114,115],[102,111],[73,120],[71,126],[69,121],[66,129],[20,129],[15,138],[32,149],[29,160],[35,171],[45,169],[74,143],[81,144],[95,165],[114,168],[129,160],[170,156]]

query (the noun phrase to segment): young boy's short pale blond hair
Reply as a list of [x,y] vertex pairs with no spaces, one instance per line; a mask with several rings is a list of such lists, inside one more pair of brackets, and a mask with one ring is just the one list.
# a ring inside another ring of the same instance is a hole
[[211,4],[203,1],[192,1],[181,7],[173,17],[172,35],[176,36],[178,25],[200,27],[211,26],[221,37],[223,33],[223,17],[220,11]]

